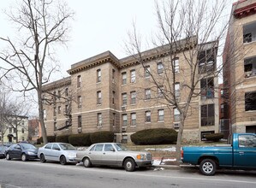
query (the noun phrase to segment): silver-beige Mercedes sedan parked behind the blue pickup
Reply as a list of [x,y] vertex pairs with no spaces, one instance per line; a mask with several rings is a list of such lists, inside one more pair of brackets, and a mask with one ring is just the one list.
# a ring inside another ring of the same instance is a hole
[[85,167],[107,165],[124,167],[132,172],[135,167],[151,167],[152,155],[147,152],[129,151],[119,143],[92,144],[87,150],[78,151],[75,160]]

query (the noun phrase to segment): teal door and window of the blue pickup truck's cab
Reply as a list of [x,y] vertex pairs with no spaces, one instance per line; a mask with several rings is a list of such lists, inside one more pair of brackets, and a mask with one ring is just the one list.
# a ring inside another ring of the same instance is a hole
[[234,166],[256,167],[256,135],[238,136],[238,148],[234,150]]

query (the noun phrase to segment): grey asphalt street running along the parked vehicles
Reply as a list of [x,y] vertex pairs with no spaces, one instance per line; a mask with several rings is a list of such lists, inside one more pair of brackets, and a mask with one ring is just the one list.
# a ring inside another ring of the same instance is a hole
[[138,169],[129,173],[122,168],[60,165],[56,162],[0,160],[0,187],[256,187],[256,173],[221,171],[207,177],[197,168]]

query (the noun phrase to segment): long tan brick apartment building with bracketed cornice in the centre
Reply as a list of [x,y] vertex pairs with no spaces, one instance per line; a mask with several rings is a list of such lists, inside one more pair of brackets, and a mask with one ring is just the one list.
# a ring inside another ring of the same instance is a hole
[[[202,45],[198,73],[204,74],[216,68],[216,57],[211,56],[209,60],[207,53],[212,49],[217,53],[217,48],[211,43]],[[162,63],[169,61],[168,50],[165,46],[143,52],[147,70],[161,74]],[[176,53],[176,78],[182,82],[190,75],[190,69],[184,63],[183,51]],[[74,63],[68,73],[68,78],[43,87],[48,135],[112,131],[116,141],[128,142],[132,133],[147,128],[178,130],[179,112],[161,103],[164,100],[161,92],[152,89],[149,74],[133,56],[119,60],[106,51]],[[192,100],[184,139],[199,141],[205,133],[218,132],[218,94],[214,90],[217,85],[217,78],[213,76],[199,84],[202,95]],[[176,95],[180,97],[179,82],[176,83]],[[180,103],[186,97],[181,95]]]

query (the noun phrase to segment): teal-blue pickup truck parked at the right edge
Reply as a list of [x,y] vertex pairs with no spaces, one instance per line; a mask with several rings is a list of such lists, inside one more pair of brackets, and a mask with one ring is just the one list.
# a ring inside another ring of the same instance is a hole
[[256,134],[234,133],[228,144],[182,147],[182,162],[199,165],[205,175],[214,175],[218,167],[256,169]]

